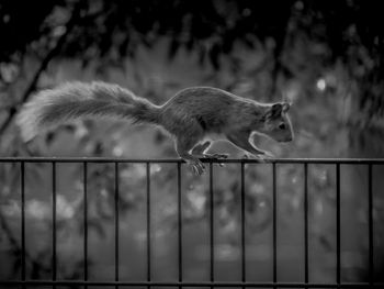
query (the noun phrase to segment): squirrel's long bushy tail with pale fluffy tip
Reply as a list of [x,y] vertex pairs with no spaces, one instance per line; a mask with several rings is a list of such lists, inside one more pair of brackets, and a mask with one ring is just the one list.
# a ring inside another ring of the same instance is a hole
[[80,118],[120,118],[158,123],[158,107],[117,85],[68,82],[38,92],[18,115],[24,140]]

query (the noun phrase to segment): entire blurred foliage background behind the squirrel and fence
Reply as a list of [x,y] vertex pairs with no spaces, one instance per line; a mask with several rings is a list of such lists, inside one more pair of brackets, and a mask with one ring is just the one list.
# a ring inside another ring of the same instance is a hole
[[[176,157],[150,126],[79,121],[24,143],[14,124],[36,90],[68,80],[120,84],[155,103],[189,86],[292,101],[295,140],[279,157],[383,156],[384,20],[379,1],[0,1],[0,155]],[[242,153],[226,142],[213,147]],[[154,165],[155,280],[177,278],[174,166]],[[366,167],[341,166],[342,280],[368,278]],[[82,278],[82,179],[58,166],[60,278]],[[49,165],[26,166],[27,277],[50,278]],[[374,166],[375,274],[382,276],[383,169]],[[121,278],[145,276],[145,167],[121,169]],[[301,281],[303,167],[279,166],[279,280]],[[90,275],[113,279],[113,166],[89,171]],[[239,280],[239,166],[215,167],[216,279]],[[310,281],[335,281],[335,167],[309,167]],[[184,278],[207,280],[207,177],[183,168]],[[247,279],[270,281],[271,169],[246,168]],[[0,276],[20,278],[20,168],[0,166]],[[365,233],[362,233],[365,232]],[[295,264],[295,266],[292,266]]]

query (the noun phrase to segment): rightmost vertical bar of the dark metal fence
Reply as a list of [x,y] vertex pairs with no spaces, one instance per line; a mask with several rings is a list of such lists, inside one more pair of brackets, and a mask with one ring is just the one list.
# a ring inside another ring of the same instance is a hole
[[372,164],[368,165],[368,222],[369,222],[369,281],[371,287],[373,286],[373,271],[374,271],[374,263],[373,263],[373,193],[372,193]]

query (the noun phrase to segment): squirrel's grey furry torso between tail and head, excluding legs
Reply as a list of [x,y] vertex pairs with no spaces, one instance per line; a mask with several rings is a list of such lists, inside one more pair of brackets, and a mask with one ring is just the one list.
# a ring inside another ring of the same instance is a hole
[[[162,125],[172,134],[196,129],[223,131],[247,125],[255,119],[256,101],[240,98],[213,87],[190,87],[180,90],[161,107]],[[260,110],[262,104],[260,103]]]

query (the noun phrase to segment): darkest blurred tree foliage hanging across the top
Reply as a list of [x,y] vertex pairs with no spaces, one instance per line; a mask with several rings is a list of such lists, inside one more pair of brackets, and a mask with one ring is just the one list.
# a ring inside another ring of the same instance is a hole
[[[355,95],[359,110],[366,110],[359,123],[383,113],[384,32],[377,2],[57,0],[39,2],[38,9],[35,5],[10,0],[0,3],[0,33],[7,38],[0,51],[2,91],[18,79],[18,71],[22,74],[25,57],[42,63],[24,93],[11,100],[2,95],[8,103],[1,108],[2,114],[9,116],[1,123],[1,134],[52,59],[76,58],[84,66],[100,59],[101,67],[124,69],[123,60],[134,57],[138,47],[151,47],[163,38],[169,41],[170,58],[187,49],[215,69],[223,59],[236,65],[231,56],[237,45],[264,53],[253,74],[269,71],[271,95],[279,90],[280,78],[297,77],[293,59],[286,56],[297,43],[310,43],[306,49],[320,62],[323,71],[338,62],[348,68],[354,89],[349,92]],[[316,69],[312,63],[298,65]]]

